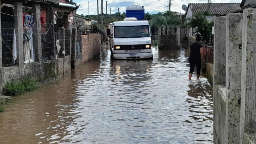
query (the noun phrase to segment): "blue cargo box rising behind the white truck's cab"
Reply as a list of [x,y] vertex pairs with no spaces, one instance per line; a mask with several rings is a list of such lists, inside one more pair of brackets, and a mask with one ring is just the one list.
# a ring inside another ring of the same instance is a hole
[[126,18],[137,18],[137,20],[143,20],[145,17],[144,6],[128,6],[126,8]]

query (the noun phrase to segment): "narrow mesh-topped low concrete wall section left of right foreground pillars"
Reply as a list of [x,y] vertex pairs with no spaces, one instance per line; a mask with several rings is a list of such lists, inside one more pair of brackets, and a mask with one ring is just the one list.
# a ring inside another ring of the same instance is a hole
[[213,135],[214,144],[227,144],[226,125],[226,16],[214,18]]

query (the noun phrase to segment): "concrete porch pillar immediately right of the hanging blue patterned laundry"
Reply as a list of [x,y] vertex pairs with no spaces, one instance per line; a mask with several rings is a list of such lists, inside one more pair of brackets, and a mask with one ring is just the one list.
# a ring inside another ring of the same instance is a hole
[[[40,18],[40,4],[32,4],[33,14],[34,14],[34,23],[35,26],[33,27],[33,44],[35,46],[35,61],[42,60],[42,45],[41,45],[41,18]],[[37,47],[37,48],[36,48]]]

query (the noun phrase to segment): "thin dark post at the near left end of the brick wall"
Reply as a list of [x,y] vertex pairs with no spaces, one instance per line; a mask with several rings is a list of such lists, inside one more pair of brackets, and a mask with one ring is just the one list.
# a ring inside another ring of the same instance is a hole
[[72,28],[71,69],[75,69],[76,64],[76,33],[76,28]]

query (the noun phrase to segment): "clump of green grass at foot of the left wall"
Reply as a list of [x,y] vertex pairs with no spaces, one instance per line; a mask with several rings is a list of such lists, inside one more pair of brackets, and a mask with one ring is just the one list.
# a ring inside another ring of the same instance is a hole
[[6,96],[16,96],[20,94],[25,94],[27,92],[33,91],[40,88],[40,84],[38,83],[38,79],[33,78],[24,78],[22,82],[16,83],[12,82],[10,84],[6,84],[3,91]]

